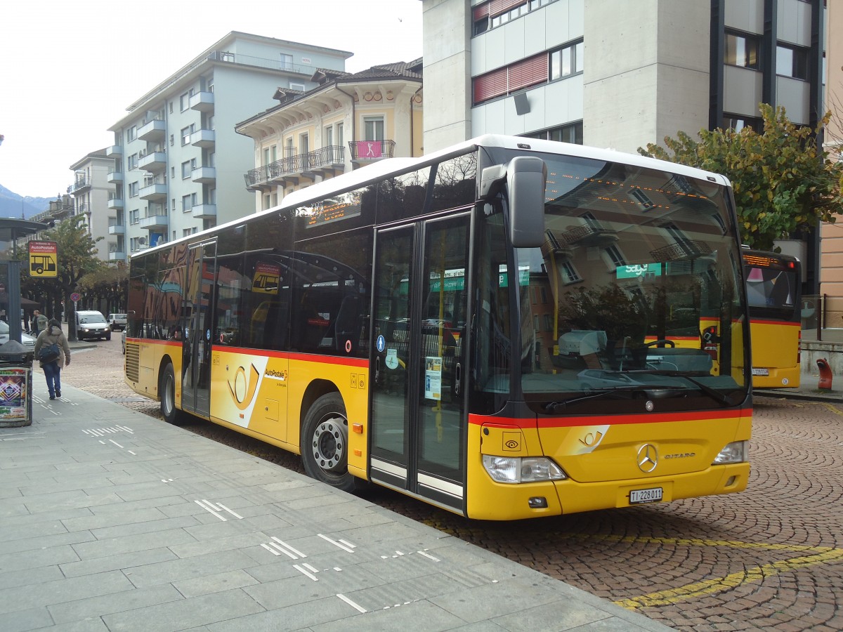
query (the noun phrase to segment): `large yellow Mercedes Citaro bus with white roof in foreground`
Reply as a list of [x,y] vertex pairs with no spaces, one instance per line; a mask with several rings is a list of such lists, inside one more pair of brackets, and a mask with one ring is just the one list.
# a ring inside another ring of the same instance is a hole
[[728,494],[741,261],[720,175],[478,137],[133,254],[126,382],[328,485],[470,518]]

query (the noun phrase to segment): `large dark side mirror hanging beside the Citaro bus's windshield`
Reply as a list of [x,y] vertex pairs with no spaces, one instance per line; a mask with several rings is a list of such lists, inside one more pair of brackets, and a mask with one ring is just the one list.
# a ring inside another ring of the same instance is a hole
[[518,156],[507,166],[509,237],[515,248],[545,243],[547,165],[541,158]]

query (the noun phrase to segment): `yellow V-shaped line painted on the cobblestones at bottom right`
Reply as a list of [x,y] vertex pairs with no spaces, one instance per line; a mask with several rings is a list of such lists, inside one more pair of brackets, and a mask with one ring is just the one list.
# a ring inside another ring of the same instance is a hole
[[[652,541],[661,540],[662,538],[645,539]],[[670,540],[673,538],[664,539]],[[677,543],[680,542],[680,540],[678,539],[675,541]],[[686,542],[691,541],[692,540],[687,540]],[[711,544],[706,545],[713,545],[717,541],[699,540],[699,542],[711,542]],[[755,566],[754,568],[749,568],[737,573],[731,573],[725,577],[715,577],[710,580],[695,581],[693,583],[686,584],[685,586],[670,588],[668,590],[659,592],[651,592],[650,594],[642,595],[641,597],[621,599],[620,601],[616,601],[615,604],[621,606],[622,608],[627,608],[629,610],[635,610],[637,608],[647,608],[647,606],[666,606],[671,603],[685,602],[695,597],[704,597],[706,595],[711,595],[715,592],[726,591],[750,581],[763,581],[765,577],[778,575],[779,573],[785,573],[790,570],[796,570],[799,568],[804,568],[806,566],[813,566],[816,564],[822,564],[824,562],[843,559],[843,549],[829,549],[827,547],[791,547],[787,544],[750,544],[732,542],[724,542],[722,544],[726,546],[737,546],[741,549],[791,549],[818,551],[818,553],[813,555],[803,555],[801,557],[791,558],[790,560],[779,560],[777,562],[772,562],[771,564]]]

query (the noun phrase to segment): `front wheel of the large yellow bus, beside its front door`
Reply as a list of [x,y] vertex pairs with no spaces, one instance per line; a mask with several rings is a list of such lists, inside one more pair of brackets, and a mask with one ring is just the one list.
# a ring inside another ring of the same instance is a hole
[[322,395],[304,417],[302,463],[309,477],[343,491],[355,489],[348,474],[348,420],[339,394]]

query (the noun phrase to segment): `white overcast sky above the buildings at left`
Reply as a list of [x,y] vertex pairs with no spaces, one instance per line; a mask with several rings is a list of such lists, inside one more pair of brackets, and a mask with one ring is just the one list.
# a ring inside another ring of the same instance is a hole
[[129,104],[233,30],[350,51],[357,72],[421,56],[421,2],[0,0],[0,185],[65,192]]

